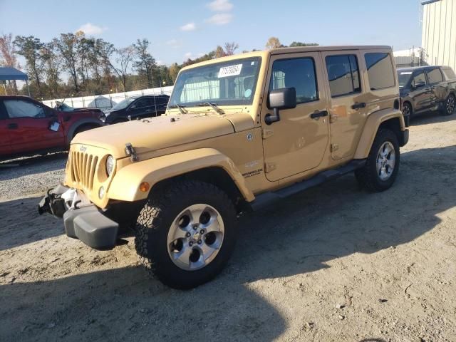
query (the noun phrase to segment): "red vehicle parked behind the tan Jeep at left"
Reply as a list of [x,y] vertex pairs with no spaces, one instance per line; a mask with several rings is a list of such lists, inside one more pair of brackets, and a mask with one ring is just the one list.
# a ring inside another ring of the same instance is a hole
[[83,130],[100,127],[99,109],[63,112],[27,96],[0,96],[0,160],[66,150]]

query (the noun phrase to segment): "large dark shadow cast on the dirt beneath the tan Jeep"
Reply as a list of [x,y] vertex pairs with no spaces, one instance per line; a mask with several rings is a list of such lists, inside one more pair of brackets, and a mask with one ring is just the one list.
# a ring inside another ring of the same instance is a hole
[[248,214],[227,269],[192,291],[168,289],[136,267],[0,286],[1,326],[8,327],[0,339],[279,338],[287,321],[245,284],[412,242],[455,207],[455,167],[456,146],[406,152],[398,180],[386,192],[368,194],[346,175]]

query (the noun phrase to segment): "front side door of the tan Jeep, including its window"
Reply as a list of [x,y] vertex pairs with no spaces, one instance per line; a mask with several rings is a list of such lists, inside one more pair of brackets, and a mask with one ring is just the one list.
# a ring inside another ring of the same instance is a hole
[[[269,92],[296,89],[296,108],[280,110],[280,121],[266,125],[272,110],[261,109],[266,178],[281,180],[320,165],[328,145],[328,102],[320,53],[271,56]],[[314,114],[314,115],[312,115]],[[316,115],[318,114],[318,115]],[[314,118],[312,118],[312,117]]]

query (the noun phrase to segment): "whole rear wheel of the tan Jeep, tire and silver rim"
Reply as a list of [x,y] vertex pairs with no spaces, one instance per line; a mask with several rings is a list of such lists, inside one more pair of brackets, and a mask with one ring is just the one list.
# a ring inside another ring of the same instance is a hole
[[398,138],[392,130],[378,130],[366,164],[355,171],[356,179],[371,192],[387,190],[398,176],[400,151]]

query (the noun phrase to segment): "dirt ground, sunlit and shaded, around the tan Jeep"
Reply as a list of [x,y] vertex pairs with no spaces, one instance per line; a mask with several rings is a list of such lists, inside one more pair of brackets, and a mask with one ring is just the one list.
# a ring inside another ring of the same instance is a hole
[[153,279],[132,237],[98,252],[38,216],[64,163],[0,167],[0,341],[456,341],[456,115],[413,122],[386,192],[346,175],[243,217],[227,269],[191,291]]

